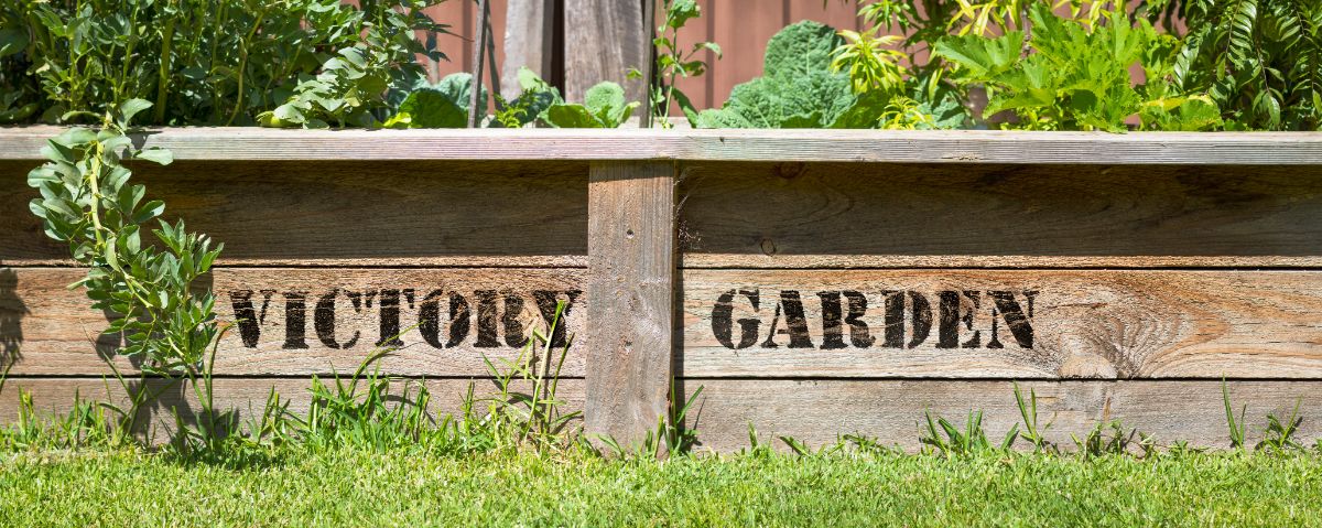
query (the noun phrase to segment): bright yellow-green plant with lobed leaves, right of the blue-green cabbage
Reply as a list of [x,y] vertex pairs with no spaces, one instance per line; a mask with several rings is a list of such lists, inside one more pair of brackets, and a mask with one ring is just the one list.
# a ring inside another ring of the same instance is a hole
[[[1001,111],[1017,120],[1002,123],[1027,130],[1128,130],[1138,114],[1141,128],[1203,130],[1220,124],[1216,109],[1196,94],[1173,94],[1166,82],[1174,41],[1158,36],[1144,20],[1132,25],[1122,13],[1089,29],[1060,19],[1042,4],[1030,7],[1032,37],[1021,54],[1025,34],[997,38],[966,34],[943,38],[936,53],[958,65],[962,82],[988,89],[984,118]],[[1142,64],[1147,83],[1133,86],[1129,67]]]

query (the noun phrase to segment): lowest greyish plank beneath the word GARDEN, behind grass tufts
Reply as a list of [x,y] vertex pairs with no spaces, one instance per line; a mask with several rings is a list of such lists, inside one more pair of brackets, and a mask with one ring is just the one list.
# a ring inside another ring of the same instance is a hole
[[[1021,421],[1009,381],[789,381],[685,380],[691,393],[702,386],[695,423],[703,449],[734,451],[748,446],[748,425],[768,445],[793,437],[812,446],[838,435],[863,434],[908,451],[919,449],[923,413],[944,416],[960,427],[970,410],[982,410],[988,437],[999,442]],[[1126,431],[1154,435],[1161,446],[1187,441],[1194,446],[1229,447],[1219,381],[1031,381],[1039,421],[1051,421],[1047,438],[1073,450],[1071,434],[1083,437],[1097,423],[1120,419]],[[1232,381],[1236,408],[1247,405],[1249,443],[1263,438],[1266,414],[1282,421],[1296,402],[1303,423],[1297,439],[1322,438],[1322,382]],[[1138,439],[1138,435],[1134,437]],[[1019,447],[1026,443],[1021,441]]]

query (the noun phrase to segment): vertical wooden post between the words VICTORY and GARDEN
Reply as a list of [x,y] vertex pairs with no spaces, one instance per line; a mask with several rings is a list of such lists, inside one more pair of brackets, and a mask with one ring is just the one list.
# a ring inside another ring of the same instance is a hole
[[674,349],[674,164],[592,163],[588,434],[636,445],[666,412]]

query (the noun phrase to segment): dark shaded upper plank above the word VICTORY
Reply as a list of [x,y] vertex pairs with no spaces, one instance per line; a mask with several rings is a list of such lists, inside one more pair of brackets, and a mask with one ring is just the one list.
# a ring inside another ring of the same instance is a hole
[[[24,175],[0,161],[0,266],[66,265]],[[584,266],[586,163],[139,164],[165,218],[225,242],[222,266]]]

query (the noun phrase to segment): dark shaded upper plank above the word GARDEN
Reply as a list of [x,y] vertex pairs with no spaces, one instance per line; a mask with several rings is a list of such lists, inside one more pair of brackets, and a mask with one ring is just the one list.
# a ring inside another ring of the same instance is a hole
[[685,267],[1322,265],[1322,167],[690,163]]

